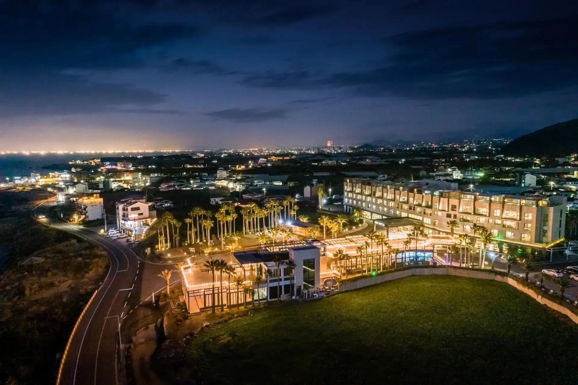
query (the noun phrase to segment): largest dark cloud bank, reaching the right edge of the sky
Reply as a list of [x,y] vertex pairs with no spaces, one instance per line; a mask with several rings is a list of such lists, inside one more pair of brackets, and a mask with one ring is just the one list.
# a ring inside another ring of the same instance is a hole
[[512,98],[578,85],[578,17],[408,32],[384,39],[387,64],[363,71],[266,71],[251,87],[347,88],[365,97]]

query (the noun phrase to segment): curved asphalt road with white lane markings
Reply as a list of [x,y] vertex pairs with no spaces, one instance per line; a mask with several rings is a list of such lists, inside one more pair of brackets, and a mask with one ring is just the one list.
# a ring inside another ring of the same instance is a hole
[[[110,258],[109,272],[72,336],[62,364],[60,384],[125,383],[120,349],[123,343],[130,342],[132,333],[121,333],[123,321],[129,316],[126,321],[134,327],[142,327],[158,319],[160,313],[151,309],[151,297],[153,292],[164,288],[163,280],[157,275],[172,266],[140,260],[124,239],[106,238],[98,234],[98,228],[88,229],[46,219],[42,222],[101,246]],[[179,275],[173,275],[171,281],[179,282]]]

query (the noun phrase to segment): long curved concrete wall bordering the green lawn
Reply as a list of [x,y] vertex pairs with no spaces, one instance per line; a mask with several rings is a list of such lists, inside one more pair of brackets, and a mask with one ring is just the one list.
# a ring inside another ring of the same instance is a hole
[[402,271],[397,271],[393,273],[388,273],[384,275],[379,275],[375,277],[367,277],[363,279],[358,279],[353,282],[347,282],[339,284],[339,292],[355,290],[358,288],[372,286],[378,283],[389,282],[393,280],[397,280],[400,278],[410,277],[414,275],[452,275],[458,277],[465,277],[465,278],[474,278],[474,279],[486,279],[486,280],[495,280],[498,282],[507,283],[510,286],[513,286],[520,290],[521,292],[528,294],[530,297],[535,299],[536,301],[542,303],[542,305],[548,306],[550,309],[556,310],[562,314],[568,316],[572,321],[578,324],[578,314],[573,313],[572,310],[566,308],[560,303],[556,303],[547,297],[543,297],[536,291],[532,290],[524,284],[517,282],[517,280],[512,279],[510,277],[499,275],[492,271],[479,271],[479,270],[469,270],[469,269],[454,269],[450,267],[445,268],[414,268],[414,269],[407,269]]

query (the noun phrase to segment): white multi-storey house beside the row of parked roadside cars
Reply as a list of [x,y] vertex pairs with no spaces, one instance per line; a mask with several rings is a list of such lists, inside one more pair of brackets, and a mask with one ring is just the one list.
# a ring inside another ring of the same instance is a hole
[[117,228],[134,239],[142,239],[156,218],[156,210],[146,203],[144,197],[131,197],[116,202]]

